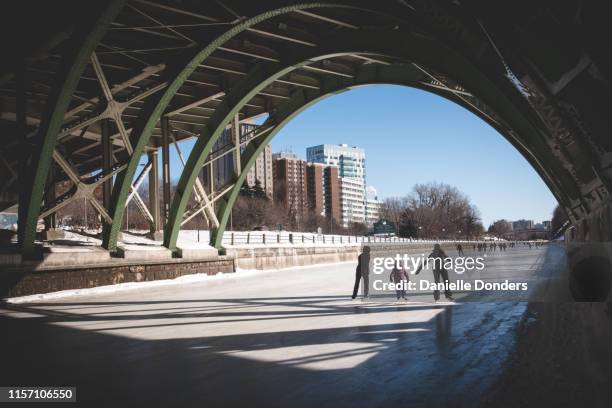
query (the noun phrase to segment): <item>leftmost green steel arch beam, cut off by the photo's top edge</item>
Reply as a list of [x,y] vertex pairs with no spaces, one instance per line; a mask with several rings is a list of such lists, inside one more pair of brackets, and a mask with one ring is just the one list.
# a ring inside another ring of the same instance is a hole
[[56,74],[56,82],[40,123],[37,147],[32,156],[32,163],[36,166],[31,174],[32,190],[27,203],[19,203],[27,208],[24,211],[26,219],[19,220],[19,223],[23,223],[20,241],[21,251],[25,256],[32,255],[34,251],[36,225],[40,215],[45,182],[51,166],[57,135],[64,121],[64,114],[81,75],[89,63],[92,52],[125,2],[126,0],[103,2],[102,9],[95,10],[99,12],[95,21],[86,18],[82,21],[83,24],[79,24],[71,37],[74,43],[62,58],[62,65]]

